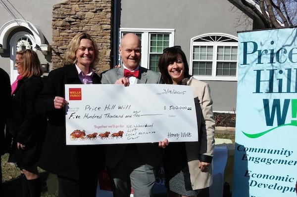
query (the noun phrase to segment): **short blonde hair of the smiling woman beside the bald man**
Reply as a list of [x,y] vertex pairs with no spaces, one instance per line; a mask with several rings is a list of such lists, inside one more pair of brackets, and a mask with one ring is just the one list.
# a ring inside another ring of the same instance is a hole
[[93,42],[94,50],[95,50],[95,58],[94,61],[90,64],[90,67],[94,69],[96,63],[99,61],[99,49],[96,43],[96,40],[91,37],[87,33],[79,33],[70,41],[68,45],[68,50],[65,52],[64,63],[65,64],[73,64],[76,61],[76,51],[79,48],[80,41],[82,39],[90,39]]

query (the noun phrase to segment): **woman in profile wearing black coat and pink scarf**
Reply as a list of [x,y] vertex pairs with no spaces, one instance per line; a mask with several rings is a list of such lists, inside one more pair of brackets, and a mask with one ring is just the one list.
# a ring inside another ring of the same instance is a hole
[[19,75],[11,85],[8,131],[12,134],[12,144],[8,162],[16,162],[21,170],[22,196],[40,197],[41,181],[37,161],[46,118],[37,116],[34,106],[43,88],[43,70],[37,54],[30,49],[16,53],[15,67]]

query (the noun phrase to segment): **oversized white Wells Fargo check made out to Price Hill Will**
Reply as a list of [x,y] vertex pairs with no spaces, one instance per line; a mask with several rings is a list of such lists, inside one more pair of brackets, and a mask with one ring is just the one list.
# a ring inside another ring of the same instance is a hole
[[66,144],[198,141],[192,88],[169,84],[66,84]]

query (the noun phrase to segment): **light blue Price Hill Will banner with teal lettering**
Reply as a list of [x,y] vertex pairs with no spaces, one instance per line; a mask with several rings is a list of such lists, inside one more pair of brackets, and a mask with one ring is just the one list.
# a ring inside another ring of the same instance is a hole
[[297,28],[239,33],[232,197],[296,197]]

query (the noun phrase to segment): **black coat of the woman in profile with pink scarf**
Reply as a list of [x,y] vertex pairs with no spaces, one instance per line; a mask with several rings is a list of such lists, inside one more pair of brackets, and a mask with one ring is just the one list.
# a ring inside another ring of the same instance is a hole
[[[20,79],[11,96],[6,132],[8,130],[12,135],[13,141],[8,162],[17,162],[19,167],[33,167],[41,153],[46,118],[37,116],[35,102],[43,84],[42,78],[37,76]],[[26,145],[26,148],[17,149],[17,142]]]

